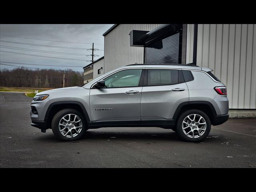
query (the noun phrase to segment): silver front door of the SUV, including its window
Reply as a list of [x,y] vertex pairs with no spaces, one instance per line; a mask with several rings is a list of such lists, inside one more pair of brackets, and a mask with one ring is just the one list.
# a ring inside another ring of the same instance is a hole
[[124,69],[101,80],[106,88],[90,89],[92,121],[140,121],[140,100],[144,70]]

